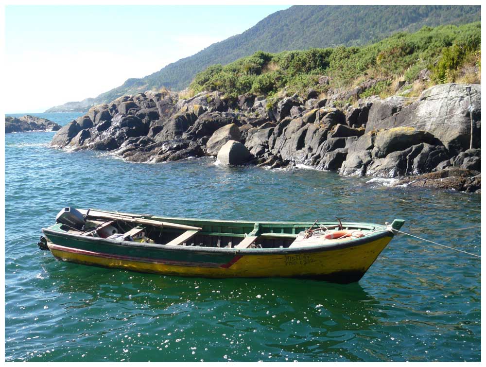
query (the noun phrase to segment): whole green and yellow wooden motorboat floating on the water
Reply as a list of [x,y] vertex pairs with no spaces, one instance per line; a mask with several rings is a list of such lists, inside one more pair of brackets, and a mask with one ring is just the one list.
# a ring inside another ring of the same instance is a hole
[[360,280],[404,223],[222,221],[73,208],[61,210],[56,222],[42,228],[38,245],[61,261],[175,276],[339,283]]

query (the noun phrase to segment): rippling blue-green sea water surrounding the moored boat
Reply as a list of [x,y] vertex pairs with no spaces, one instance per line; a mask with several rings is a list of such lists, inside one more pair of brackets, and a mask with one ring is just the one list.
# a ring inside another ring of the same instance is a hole
[[[79,114],[50,115],[64,124]],[[65,206],[223,219],[384,223],[481,254],[480,195],[210,158],[127,163],[5,135],[6,361],[481,360],[481,262],[397,236],[358,283],[164,277],[36,247]]]

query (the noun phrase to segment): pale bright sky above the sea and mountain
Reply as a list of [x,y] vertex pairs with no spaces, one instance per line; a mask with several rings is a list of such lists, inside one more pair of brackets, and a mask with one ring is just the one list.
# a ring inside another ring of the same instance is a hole
[[289,6],[8,5],[4,112],[96,97]]

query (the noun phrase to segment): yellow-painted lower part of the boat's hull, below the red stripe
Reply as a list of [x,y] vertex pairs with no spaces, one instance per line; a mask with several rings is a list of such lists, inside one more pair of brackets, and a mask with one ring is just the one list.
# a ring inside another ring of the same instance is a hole
[[126,259],[113,259],[97,256],[95,253],[76,253],[52,246],[52,254],[67,262],[121,268],[146,273],[164,275],[195,276],[210,278],[234,277],[312,277],[341,272],[365,272],[388,245],[391,237],[367,244],[342,249],[300,253],[300,254],[241,254],[238,261],[229,267],[201,267],[174,265],[161,262],[146,262]]

